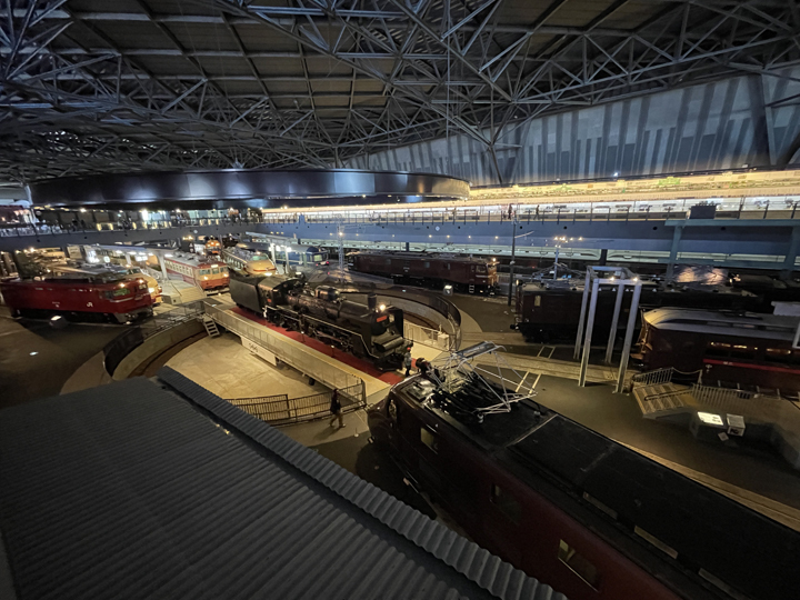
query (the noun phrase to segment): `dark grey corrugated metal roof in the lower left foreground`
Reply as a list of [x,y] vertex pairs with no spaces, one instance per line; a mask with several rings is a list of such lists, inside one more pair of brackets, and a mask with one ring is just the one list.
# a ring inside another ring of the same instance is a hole
[[20,600],[563,598],[160,377],[196,406],[133,379],[2,411],[0,528]]

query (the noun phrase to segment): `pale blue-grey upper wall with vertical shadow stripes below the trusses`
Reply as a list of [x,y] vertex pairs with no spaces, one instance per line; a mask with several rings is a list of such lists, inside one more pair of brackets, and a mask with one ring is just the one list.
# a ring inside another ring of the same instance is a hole
[[779,76],[736,77],[511,123],[497,141],[497,167],[484,143],[463,134],[347,166],[449,174],[473,186],[784,168],[800,150],[800,98],[793,98],[800,68]]

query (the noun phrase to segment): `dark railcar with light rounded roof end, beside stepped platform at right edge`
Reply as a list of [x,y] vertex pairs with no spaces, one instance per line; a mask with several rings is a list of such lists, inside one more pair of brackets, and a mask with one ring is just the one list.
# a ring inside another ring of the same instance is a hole
[[703,381],[797,394],[800,350],[792,348],[792,341],[798,326],[798,317],[650,310],[642,314],[639,348],[631,358],[648,371],[674,367],[702,372]]

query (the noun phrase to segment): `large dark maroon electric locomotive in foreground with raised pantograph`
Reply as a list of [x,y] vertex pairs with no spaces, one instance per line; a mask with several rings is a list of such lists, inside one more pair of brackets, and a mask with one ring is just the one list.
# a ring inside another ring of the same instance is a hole
[[480,546],[570,600],[794,600],[800,534],[530,400],[426,376],[369,411],[377,446]]

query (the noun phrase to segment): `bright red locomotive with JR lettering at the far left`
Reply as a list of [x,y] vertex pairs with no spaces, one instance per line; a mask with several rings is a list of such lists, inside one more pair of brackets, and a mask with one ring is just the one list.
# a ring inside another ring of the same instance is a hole
[[97,316],[120,323],[152,314],[147,282],[121,276],[110,280],[12,279],[0,282],[0,293],[14,314]]

